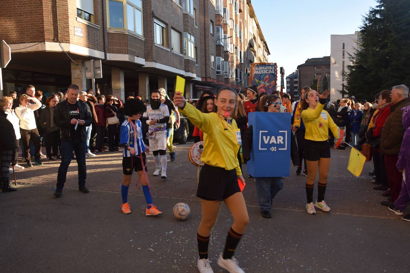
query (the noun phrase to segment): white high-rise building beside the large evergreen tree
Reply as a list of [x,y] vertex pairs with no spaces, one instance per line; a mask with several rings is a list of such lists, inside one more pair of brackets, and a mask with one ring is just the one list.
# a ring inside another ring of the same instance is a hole
[[[345,90],[346,79],[343,72],[351,65],[349,54],[357,48],[358,33],[346,35],[330,35],[330,100],[342,99],[338,90]],[[347,90],[346,90],[347,91]]]

